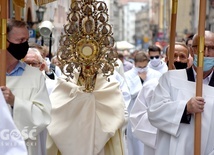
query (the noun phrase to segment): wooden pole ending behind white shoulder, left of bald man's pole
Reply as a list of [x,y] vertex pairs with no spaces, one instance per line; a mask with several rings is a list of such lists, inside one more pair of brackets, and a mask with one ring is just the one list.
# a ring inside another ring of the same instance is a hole
[[170,44],[169,44],[169,70],[174,69],[174,50],[175,50],[175,34],[177,19],[178,0],[172,0],[171,27],[170,27]]

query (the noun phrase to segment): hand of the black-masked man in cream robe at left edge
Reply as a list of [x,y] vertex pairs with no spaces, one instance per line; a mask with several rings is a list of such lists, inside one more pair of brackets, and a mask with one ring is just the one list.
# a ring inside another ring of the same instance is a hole
[[0,89],[2,90],[2,93],[4,95],[5,101],[10,104],[10,106],[14,106],[14,100],[15,100],[15,96],[13,95],[13,93],[11,92],[11,90],[9,88],[7,88],[6,86],[0,86]]

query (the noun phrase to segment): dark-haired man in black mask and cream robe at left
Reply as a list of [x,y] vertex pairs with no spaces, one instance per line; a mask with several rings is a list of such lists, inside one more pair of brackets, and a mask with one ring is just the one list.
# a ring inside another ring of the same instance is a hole
[[[25,22],[7,20],[6,86],[0,89],[22,133],[16,138],[23,137],[28,155],[43,155],[46,154],[44,131],[51,121],[51,104],[41,71],[21,61],[29,48],[28,38]],[[14,149],[15,145],[10,147]]]

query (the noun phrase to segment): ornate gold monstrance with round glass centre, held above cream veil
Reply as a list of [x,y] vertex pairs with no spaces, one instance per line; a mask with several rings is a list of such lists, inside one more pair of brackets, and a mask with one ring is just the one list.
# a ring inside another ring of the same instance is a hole
[[57,57],[63,74],[69,81],[77,71],[77,84],[84,86],[85,92],[94,90],[98,73],[108,79],[117,65],[117,52],[113,50],[114,38],[108,18],[104,2],[74,1],[59,41]]

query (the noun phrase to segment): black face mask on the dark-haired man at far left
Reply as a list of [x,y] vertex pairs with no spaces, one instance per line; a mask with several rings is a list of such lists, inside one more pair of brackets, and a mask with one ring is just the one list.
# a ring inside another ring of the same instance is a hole
[[12,42],[10,42],[9,40],[7,40],[10,45],[7,48],[7,50],[10,52],[10,54],[16,58],[17,60],[21,60],[22,58],[24,58],[27,54],[29,45],[28,42],[24,42],[21,44],[14,44]]

